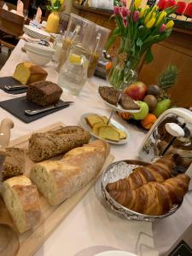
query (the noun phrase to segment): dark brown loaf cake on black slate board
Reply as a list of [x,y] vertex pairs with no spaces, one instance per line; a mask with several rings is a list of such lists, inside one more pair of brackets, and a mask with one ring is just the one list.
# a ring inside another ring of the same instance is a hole
[[49,81],[29,84],[26,99],[40,106],[47,107],[59,102],[62,89],[59,85]]

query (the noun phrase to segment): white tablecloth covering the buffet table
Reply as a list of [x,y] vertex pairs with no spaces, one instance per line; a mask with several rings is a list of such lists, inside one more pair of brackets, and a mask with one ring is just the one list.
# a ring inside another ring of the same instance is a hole
[[[20,39],[8,61],[1,69],[0,77],[13,76],[18,63],[29,61],[26,53],[21,50],[24,44],[25,41]],[[44,69],[48,72],[47,80],[56,83],[58,73],[55,71],[55,67],[56,63],[50,61]],[[61,99],[73,101],[74,104],[32,123],[26,124],[20,121],[3,108],[0,108],[0,121],[4,118],[13,120],[15,127],[11,131],[11,139],[15,139],[56,122],[62,122],[64,125],[79,125],[79,119],[84,113],[98,113],[109,116],[111,110],[98,95],[98,86],[106,84],[108,84],[106,80],[93,77],[87,80],[79,96],[71,96],[65,93],[64,90]],[[0,101],[20,96],[24,95],[12,95],[0,90]],[[128,134],[126,144],[110,145],[114,161],[136,160],[138,149],[143,143],[147,131],[137,127],[137,125],[129,124],[116,113],[113,114],[113,119],[124,125]],[[44,242],[44,245],[39,247],[35,256],[93,256],[96,253],[108,250],[122,250],[137,255],[159,255],[160,248],[163,247],[166,251],[191,221],[190,216],[188,216],[188,220],[185,219],[184,223],[182,221],[179,224],[177,223],[183,210],[187,209],[189,211],[189,208],[192,208],[192,200],[189,195],[186,196],[183,206],[176,213],[165,220],[161,219],[157,224],[120,218],[109,209],[100,193],[98,193],[97,183],[63,219],[47,241]],[[185,214],[189,215],[188,212],[185,212]]]

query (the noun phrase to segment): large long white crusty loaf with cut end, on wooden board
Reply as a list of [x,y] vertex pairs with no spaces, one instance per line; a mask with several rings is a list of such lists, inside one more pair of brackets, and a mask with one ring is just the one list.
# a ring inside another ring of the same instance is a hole
[[108,143],[98,140],[73,148],[61,160],[36,164],[30,177],[49,204],[55,206],[96,177],[108,153]]

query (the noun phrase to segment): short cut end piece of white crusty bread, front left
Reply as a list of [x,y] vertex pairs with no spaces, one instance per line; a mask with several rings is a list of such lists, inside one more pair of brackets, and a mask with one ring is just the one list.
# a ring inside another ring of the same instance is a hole
[[28,177],[11,177],[4,181],[2,195],[20,233],[38,224],[41,216],[38,189]]

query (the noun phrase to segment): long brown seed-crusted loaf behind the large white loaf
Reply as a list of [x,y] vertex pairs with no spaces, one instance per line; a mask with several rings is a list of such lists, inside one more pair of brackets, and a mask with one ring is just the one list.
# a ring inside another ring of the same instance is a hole
[[33,161],[47,160],[81,147],[90,141],[90,133],[79,126],[67,126],[56,131],[34,133],[29,139],[28,154]]

